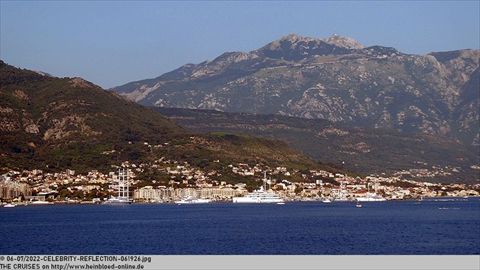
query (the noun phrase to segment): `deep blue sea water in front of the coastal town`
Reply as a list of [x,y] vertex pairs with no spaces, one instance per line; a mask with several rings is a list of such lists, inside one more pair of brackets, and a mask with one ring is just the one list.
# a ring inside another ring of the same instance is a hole
[[17,206],[0,254],[480,254],[480,199]]

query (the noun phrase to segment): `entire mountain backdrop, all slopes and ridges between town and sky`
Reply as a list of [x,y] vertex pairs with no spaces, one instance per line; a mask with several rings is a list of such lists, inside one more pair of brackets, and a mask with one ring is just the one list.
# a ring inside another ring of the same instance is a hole
[[475,182],[479,57],[292,34],[110,90],[0,61],[0,170],[166,157]]

